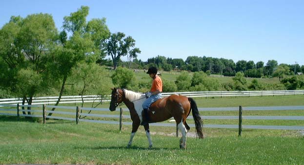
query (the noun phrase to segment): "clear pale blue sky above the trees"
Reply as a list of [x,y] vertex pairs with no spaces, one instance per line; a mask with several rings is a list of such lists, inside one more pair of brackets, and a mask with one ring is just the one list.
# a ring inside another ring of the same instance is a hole
[[81,5],[90,7],[87,20],[106,18],[111,33],[133,37],[143,61],[195,55],[304,65],[304,0],[1,0],[0,27],[11,16],[48,13],[62,30]]

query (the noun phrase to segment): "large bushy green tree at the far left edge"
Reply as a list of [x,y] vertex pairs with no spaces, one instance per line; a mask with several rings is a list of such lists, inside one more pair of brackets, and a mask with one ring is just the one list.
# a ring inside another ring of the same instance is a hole
[[[1,79],[14,95],[30,105],[33,96],[48,91],[48,59],[57,42],[58,32],[49,14],[32,14],[26,18],[12,16],[0,30],[0,56],[6,62],[8,77]],[[43,79],[43,82],[42,82]],[[31,109],[28,107],[28,109]],[[30,112],[28,112],[30,114]]]

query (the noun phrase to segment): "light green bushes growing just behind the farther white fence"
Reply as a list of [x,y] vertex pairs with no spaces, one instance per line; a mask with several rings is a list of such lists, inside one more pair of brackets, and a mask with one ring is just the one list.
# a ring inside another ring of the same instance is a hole
[[[132,91],[146,92],[151,87],[148,80],[138,80],[132,70],[118,67],[111,76],[113,84]],[[285,76],[281,83],[263,83],[253,78],[250,81],[242,72],[236,73],[232,82],[219,82],[218,79],[208,76],[203,71],[189,74],[182,71],[175,81],[162,78],[163,92],[188,92],[188,91],[282,91],[303,90],[304,75]]]

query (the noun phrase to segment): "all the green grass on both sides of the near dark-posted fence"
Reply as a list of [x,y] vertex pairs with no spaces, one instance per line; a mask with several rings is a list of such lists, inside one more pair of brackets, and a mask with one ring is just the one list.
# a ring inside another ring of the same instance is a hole
[[[303,95],[196,98],[198,107],[303,106]],[[71,105],[71,104],[70,104]],[[65,105],[67,106],[67,105]],[[73,104],[73,106],[75,106]],[[87,103],[85,105],[89,107]],[[100,107],[108,108],[108,103]],[[119,112],[102,111],[103,114]],[[128,111],[124,111],[129,115]],[[201,111],[201,115],[238,115],[237,111]],[[244,111],[243,115],[304,115],[304,110]],[[74,116],[73,116],[74,117]],[[106,119],[118,120],[118,119]],[[142,127],[126,148],[131,126],[48,120],[47,124],[0,116],[0,164],[122,165],[303,165],[303,130],[203,128],[205,139],[187,138],[179,149],[173,127],[151,127],[153,148]],[[37,122],[38,121],[38,122]],[[124,119],[128,121],[128,119]],[[193,123],[192,119],[187,120]],[[204,124],[237,124],[237,120],[205,120]],[[244,125],[304,126],[293,120],[243,120]],[[194,128],[189,131],[194,134]],[[180,136],[181,137],[181,136]]]

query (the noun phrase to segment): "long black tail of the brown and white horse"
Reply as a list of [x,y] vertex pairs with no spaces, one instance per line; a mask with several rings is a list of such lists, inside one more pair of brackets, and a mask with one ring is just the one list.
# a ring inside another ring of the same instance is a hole
[[198,107],[196,105],[196,102],[193,100],[193,98],[188,97],[188,100],[190,101],[190,109],[192,109],[192,116],[195,122],[195,128],[196,128],[196,132],[199,135],[199,138],[203,138],[203,120],[200,116]]

